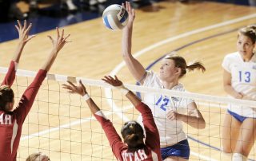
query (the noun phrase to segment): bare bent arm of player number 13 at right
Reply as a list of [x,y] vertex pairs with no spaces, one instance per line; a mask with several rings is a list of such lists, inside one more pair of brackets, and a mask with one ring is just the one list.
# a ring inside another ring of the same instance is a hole
[[231,86],[231,74],[228,73],[225,69],[223,70],[223,87],[225,92],[227,92],[230,96],[233,96],[237,99],[242,99],[242,93],[236,92]]

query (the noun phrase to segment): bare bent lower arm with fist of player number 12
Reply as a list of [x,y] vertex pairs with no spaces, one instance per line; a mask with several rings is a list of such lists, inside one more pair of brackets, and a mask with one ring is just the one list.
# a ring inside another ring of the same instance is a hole
[[167,113],[169,120],[180,120],[189,124],[193,128],[206,128],[206,121],[203,119],[201,112],[198,110],[197,105],[193,102],[188,105],[188,115],[182,115],[178,112],[170,111]]

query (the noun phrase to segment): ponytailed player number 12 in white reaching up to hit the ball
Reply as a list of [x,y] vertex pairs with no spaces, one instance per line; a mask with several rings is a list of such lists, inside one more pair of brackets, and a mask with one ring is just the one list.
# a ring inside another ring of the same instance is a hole
[[[178,82],[179,79],[186,74],[186,69],[202,69],[202,71],[205,71],[203,65],[200,62],[195,62],[193,65],[187,66],[183,57],[167,55],[162,61],[159,74],[146,71],[142,64],[134,59],[131,54],[131,37],[135,18],[134,10],[129,2],[126,2],[126,5],[123,6],[128,11],[129,21],[122,33],[122,56],[124,61],[126,61],[128,69],[130,69],[130,73],[143,86],[185,91],[183,85]],[[205,128],[206,126],[205,120],[198,111],[194,100],[178,97],[170,98],[150,93],[146,93],[143,100],[151,108],[158,127],[162,147],[162,160],[188,160],[190,147],[186,134],[182,130],[182,122],[194,128]],[[179,111],[186,111],[186,114]]]

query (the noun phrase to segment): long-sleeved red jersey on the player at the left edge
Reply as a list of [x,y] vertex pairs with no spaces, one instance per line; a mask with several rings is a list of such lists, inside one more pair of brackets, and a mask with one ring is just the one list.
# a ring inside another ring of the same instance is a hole
[[[10,70],[9,70],[10,71]],[[13,82],[7,76],[13,76],[10,73],[6,74],[4,82]],[[30,84],[26,91],[23,93],[21,100],[18,103],[14,112],[3,112],[0,110],[0,160],[1,161],[14,161],[16,160],[19,140],[22,135],[22,124],[26,119],[30,108],[34,103],[34,98],[38,93],[42,81],[46,77],[45,70],[39,70],[34,81]]]

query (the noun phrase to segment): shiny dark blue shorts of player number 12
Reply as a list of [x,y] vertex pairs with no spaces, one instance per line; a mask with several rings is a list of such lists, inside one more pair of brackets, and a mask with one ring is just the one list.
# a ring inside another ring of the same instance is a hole
[[184,139],[170,147],[161,148],[162,160],[168,156],[178,156],[184,159],[190,158],[190,145],[187,139]]

